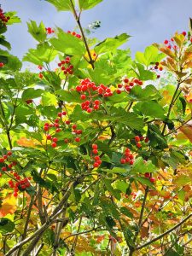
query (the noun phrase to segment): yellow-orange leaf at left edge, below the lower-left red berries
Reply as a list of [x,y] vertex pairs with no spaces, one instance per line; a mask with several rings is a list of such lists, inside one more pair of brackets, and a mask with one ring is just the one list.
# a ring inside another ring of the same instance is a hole
[[2,206],[0,207],[0,218],[3,218],[7,214],[13,214],[16,211],[16,199],[14,195],[8,195],[3,199]]

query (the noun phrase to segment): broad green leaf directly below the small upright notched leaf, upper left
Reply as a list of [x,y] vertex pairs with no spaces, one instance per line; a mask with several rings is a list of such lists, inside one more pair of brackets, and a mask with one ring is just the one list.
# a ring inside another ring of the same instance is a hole
[[57,51],[45,42],[44,44],[38,44],[37,49],[29,49],[28,53],[23,57],[23,61],[44,66],[44,62],[49,63],[53,61],[56,55]]

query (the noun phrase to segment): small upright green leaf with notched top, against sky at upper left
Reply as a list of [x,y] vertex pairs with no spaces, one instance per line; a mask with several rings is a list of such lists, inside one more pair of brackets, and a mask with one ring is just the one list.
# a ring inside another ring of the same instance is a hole
[[33,38],[38,40],[39,43],[44,42],[44,40],[47,38],[47,34],[42,21],[39,25],[37,25],[34,20],[30,20],[30,22],[27,22],[27,26],[28,32],[30,32]]

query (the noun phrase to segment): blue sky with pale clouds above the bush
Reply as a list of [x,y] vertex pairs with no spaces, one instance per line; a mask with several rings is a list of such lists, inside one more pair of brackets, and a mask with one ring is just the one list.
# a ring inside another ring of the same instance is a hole
[[[1,4],[5,11],[17,11],[22,20],[7,32],[12,53],[20,58],[36,44],[27,33],[26,21],[43,20],[45,26],[60,26],[65,31],[76,26],[72,14],[57,12],[44,0],[1,0]],[[187,30],[189,16],[192,16],[191,0],[103,0],[94,9],[84,11],[82,24],[86,27],[101,20],[102,27],[94,33],[101,40],[127,32],[132,36],[127,45],[134,55],[154,42],[163,42],[176,31]]]

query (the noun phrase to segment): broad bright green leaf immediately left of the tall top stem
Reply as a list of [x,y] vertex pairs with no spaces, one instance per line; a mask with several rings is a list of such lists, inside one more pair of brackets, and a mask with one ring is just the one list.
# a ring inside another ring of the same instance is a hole
[[55,49],[67,55],[84,55],[86,52],[84,43],[79,38],[73,37],[70,33],[63,32],[59,29],[58,38],[49,40]]

